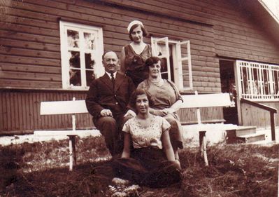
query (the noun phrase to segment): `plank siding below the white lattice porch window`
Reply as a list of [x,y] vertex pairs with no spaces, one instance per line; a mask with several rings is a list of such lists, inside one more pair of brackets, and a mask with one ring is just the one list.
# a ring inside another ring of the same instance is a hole
[[[268,105],[269,107],[273,107],[279,109],[278,102],[259,102],[261,104]],[[271,128],[271,117],[269,111],[264,109],[259,109],[257,107],[253,107],[250,104],[241,104],[241,116],[243,125],[252,125],[257,126],[257,128]],[[275,123],[276,126],[279,125],[279,114],[278,112],[275,114]]]

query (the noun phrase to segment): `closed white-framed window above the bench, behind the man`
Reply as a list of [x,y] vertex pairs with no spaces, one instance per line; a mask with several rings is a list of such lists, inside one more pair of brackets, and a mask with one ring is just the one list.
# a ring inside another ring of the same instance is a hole
[[60,21],[62,86],[84,90],[104,73],[103,32],[101,27]]

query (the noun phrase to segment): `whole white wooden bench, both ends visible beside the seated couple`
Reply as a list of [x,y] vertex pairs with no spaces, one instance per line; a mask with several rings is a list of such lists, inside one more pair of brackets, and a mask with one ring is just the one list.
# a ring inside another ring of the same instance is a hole
[[[181,108],[195,108],[197,122],[201,124],[201,107],[231,107],[234,102],[231,102],[229,93],[206,94],[206,95],[183,95],[183,104]],[[57,115],[57,114],[72,114],[73,128],[67,136],[69,136],[69,152],[70,163],[69,170],[73,170],[73,165],[76,165],[76,114],[88,113],[85,100],[72,101],[52,101],[41,102],[41,115]],[[199,131],[199,144],[201,156],[204,158],[205,165],[208,165],[206,154],[206,130]]]

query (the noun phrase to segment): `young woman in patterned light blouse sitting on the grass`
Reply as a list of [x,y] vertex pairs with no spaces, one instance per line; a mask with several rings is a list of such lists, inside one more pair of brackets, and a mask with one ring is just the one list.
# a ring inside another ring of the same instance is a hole
[[115,176],[150,187],[180,182],[180,163],[169,140],[171,125],[150,114],[152,98],[147,90],[137,89],[131,104],[135,105],[137,116],[124,124],[122,157],[113,161]]

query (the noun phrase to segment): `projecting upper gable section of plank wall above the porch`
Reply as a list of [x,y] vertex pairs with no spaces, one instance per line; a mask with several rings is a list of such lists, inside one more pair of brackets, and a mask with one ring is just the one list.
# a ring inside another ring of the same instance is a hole
[[[153,11],[158,14],[164,12],[182,20],[213,25],[216,55],[279,63],[278,37],[274,39],[269,36],[266,24],[260,24],[257,18],[252,18],[252,13],[245,9],[244,2],[233,0],[104,1]],[[255,2],[250,3],[255,4]],[[162,11],[159,8],[167,8],[167,11]],[[264,13],[257,14],[263,15]]]

